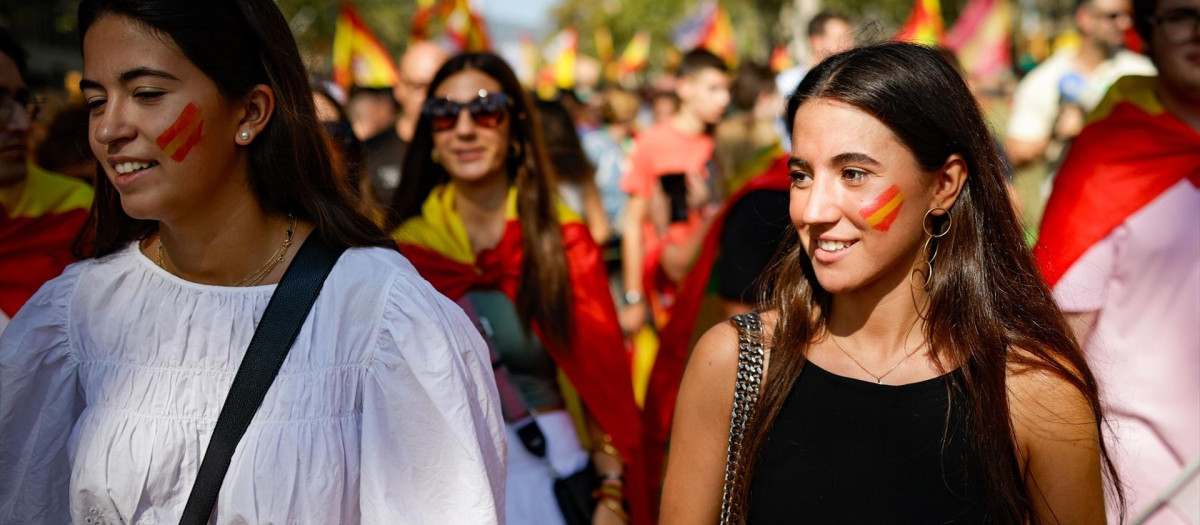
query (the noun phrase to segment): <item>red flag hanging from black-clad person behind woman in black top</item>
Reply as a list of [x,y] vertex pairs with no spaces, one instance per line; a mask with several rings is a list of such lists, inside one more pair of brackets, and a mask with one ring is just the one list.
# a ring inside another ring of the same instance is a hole
[[[679,384],[683,381],[684,364],[688,361],[688,346],[691,344],[692,333],[696,330],[696,319],[700,314],[701,298],[708,289],[713,264],[716,262],[721,231],[725,225],[725,217],[743,197],[760,191],[784,192],[791,187],[791,177],[787,169],[788,156],[776,156],[758,176],[743,185],[721,209],[720,215],[708,230],[704,237],[700,257],[692,265],[691,271],[679,286],[671,309],[671,319],[659,337],[659,351],[654,361],[654,369],[650,372],[650,382],[647,387],[646,403],[642,411],[647,434],[647,451],[662,449],[671,432],[671,420],[674,415],[676,396],[679,393]],[[647,454],[656,458],[656,454]],[[661,464],[648,465],[652,479],[658,479],[662,471]]]

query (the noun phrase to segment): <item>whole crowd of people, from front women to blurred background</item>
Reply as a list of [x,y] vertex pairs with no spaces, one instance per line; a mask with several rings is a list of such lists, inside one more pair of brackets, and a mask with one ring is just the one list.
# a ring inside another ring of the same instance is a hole
[[1200,0],[1079,1],[1000,133],[834,12],[546,99],[163,4],[56,115],[0,26],[0,523],[1200,523]]

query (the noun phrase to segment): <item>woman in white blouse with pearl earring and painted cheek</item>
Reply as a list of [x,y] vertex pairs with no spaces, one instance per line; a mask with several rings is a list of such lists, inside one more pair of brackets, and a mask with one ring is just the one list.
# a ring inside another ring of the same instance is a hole
[[500,521],[487,350],[353,211],[274,2],[84,0],[79,28],[94,242],[0,339],[0,523],[176,523],[310,235],[349,249],[214,523]]

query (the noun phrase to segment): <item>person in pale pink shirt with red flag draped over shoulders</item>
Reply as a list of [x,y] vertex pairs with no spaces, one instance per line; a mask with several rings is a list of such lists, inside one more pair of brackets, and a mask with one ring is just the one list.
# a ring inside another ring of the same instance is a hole
[[1129,517],[1194,524],[1196,500],[1166,489],[1190,476],[1200,497],[1200,0],[1135,16],[1158,78],[1122,78],[1092,113],[1034,254],[1096,373]]

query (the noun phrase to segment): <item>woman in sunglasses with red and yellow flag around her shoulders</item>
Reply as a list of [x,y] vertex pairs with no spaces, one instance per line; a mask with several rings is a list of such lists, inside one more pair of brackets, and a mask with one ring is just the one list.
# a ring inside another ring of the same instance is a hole
[[[589,459],[601,487],[587,518],[623,523],[628,496],[647,523],[638,412],[600,252],[557,199],[535,108],[500,58],[463,54],[438,71],[403,171],[392,236],[422,277],[475,310],[500,390],[515,391],[502,394],[509,523],[569,520],[554,483]],[[571,390],[590,415],[581,433],[564,410]]]

